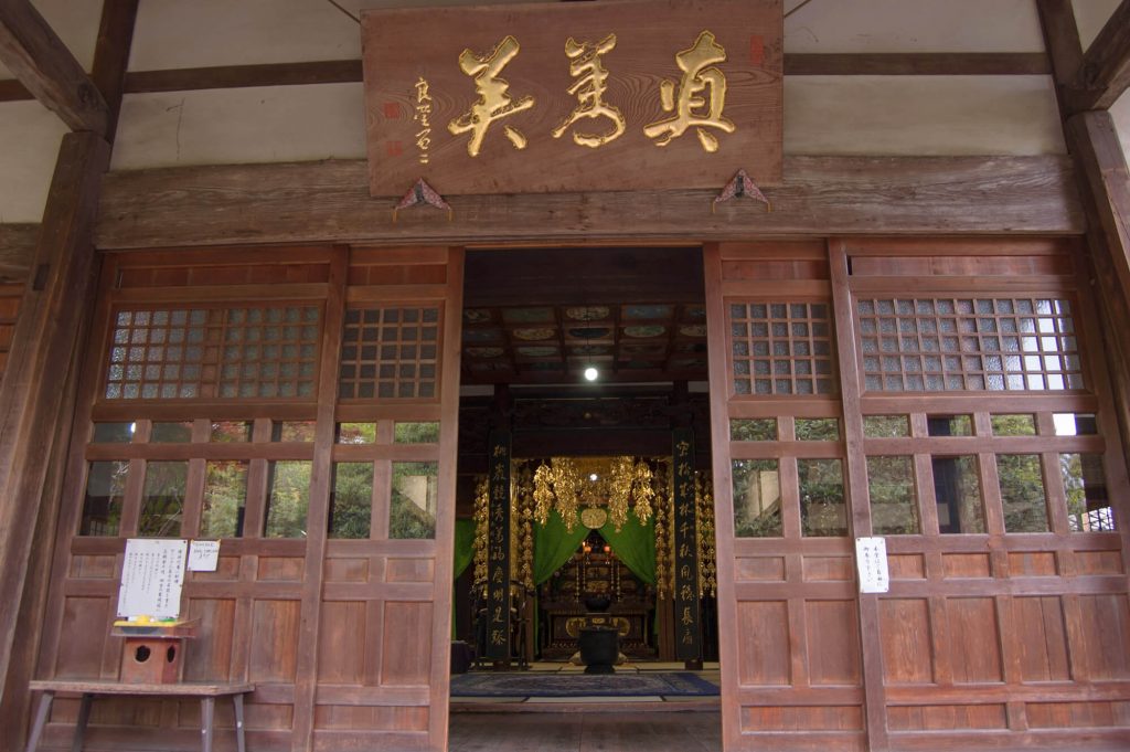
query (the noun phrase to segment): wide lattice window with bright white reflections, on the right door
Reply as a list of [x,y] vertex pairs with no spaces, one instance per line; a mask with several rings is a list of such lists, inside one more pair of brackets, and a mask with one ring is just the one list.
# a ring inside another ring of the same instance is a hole
[[1071,304],[1060,299],[860,299],[867,391],[1084,389]]

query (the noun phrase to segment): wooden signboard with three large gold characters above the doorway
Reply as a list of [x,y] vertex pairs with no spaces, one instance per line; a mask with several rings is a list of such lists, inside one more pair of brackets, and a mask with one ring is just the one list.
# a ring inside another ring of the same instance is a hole
[[370,192],[781,182],[781,0],[362,15]]

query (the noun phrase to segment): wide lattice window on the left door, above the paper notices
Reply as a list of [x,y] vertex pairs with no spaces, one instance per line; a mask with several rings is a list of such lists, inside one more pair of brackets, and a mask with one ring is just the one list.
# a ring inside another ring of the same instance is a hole
[[310,398],[313,305],[119,311],[106,399]]

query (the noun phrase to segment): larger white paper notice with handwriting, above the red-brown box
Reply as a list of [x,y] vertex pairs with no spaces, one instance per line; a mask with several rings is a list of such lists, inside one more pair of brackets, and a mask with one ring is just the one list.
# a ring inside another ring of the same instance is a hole
[[181,615],[181,586],[188,541],[130,538],[125,542],[122,586],[118,590],[118,615],[122,619]]

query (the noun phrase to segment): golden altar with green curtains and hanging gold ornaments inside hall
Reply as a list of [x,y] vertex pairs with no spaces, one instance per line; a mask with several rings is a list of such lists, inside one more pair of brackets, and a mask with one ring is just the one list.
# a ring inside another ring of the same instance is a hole
[[[713,499],[705,474],[677,489],[671,457],[554,457],[514,459],[510,477],[507,521],[492,513],[487,477],[477,482],[473,517],[458,520],[457,638],[471,646],[477,666],[579,663],[581,632],[593,626],[616,630],[621,660],[698,666],[714,658]],[[508,551],[498,546],[506,538]],[[492,570],[493,562],[505,569]],[[505,610],[492,605],[499,580],[508,582]],[[492,642],[506,613],[503,657]]]

